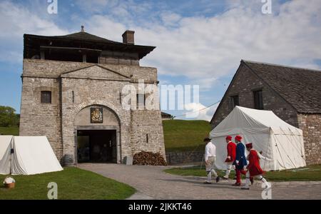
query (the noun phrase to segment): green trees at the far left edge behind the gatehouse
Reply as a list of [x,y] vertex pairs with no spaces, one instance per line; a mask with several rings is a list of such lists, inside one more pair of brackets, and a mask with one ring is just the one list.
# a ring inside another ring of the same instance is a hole
[[0,126],[19,126],[19,115],[9,106],[0,106]]

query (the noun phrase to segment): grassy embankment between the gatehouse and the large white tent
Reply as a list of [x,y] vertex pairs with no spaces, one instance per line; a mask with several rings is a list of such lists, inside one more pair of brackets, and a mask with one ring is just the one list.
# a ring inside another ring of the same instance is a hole
[[208,121],[163,121],[165,150],[170,151],[197,151],[203,150],[203,139],[210,133]]

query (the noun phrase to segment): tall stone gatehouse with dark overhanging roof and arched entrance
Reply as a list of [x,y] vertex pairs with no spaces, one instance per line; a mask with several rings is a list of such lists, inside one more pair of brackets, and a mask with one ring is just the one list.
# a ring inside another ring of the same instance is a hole
[[[134,31],[123,43],[83,27],[66,36],[25,34],[20,135],[47,136],[65,165],[122,163],[140,151],[165,158],[161,111],[122,105],[124,86],[158,85],[157,69],[140,66],[153,49],[134,44]],[[144,105],[150,94],[135,96]]]

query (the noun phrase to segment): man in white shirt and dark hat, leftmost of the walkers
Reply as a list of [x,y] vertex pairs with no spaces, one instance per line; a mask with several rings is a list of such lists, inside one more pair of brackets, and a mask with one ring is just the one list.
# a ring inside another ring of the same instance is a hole
[[210,141],[210,138],[205,138],[204,142],[206,143],[205,167],[206,167],[206,173],[208,173],[208,180],[206,180],[204,183],[206,184],[212,183],[212,175],[214,175],[216,179],[216,183],[218,183],[218,181],[220,181],[220,177],[218,177],[218,173],[216,173],[214,170],[216,146]]

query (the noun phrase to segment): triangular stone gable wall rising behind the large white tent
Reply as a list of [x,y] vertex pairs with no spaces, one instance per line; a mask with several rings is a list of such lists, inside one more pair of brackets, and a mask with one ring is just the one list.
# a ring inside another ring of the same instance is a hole
[[231,83],[225,97],[220,102],[215,118],[213,119],[211,126],[215,128],[223,119],[230,113],[229,97],[239,96],[240,106],[246,108],[254,108],[254,96],[253,91],[262,89],[263,91],[263,105],[264,110],[273,111],[283,121],[290,123],[292,126],[298,127],[297,124],[297,111],[290,106],[283,98],[277,93],[272,91],[269,86],[255,76],[250,69],[241,65],[238,73],[235,75],[235,80]]

